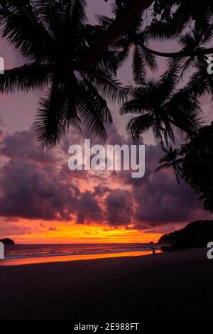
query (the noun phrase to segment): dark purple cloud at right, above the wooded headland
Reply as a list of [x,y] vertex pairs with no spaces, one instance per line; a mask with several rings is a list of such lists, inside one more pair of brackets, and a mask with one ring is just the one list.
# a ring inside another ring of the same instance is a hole
[[[170,224],[181,224],[209,217],[202,202],[184,181],[178,185],[173,171],[154,173],[163,155],[159,146],[146,146],[146,174],[144,178],[131,178],[131,173],[114,173],[116,182],[131,186],[135,204],[133,225],[138,230],[149,230]],[[199,215],[199,217],[197,217]]]

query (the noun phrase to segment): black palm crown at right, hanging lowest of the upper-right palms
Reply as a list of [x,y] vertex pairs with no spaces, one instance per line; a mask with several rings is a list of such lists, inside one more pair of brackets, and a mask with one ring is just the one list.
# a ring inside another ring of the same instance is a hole
[[158,143],[165,139],[167,144],[169,139],[175,142],[175,129],[181,135],[197,133],[202,124],[200,102],[192,87],[177,90],[180,70],[179,62],[171,62],[158,80],[144,80],[140,87],[126,89],[127,100],[120,112],[139,114],[126,126],[134,139],[150,129]]

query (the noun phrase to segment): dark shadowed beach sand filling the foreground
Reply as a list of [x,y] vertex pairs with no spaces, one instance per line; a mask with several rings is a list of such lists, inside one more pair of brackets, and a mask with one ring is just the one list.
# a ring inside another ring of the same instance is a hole
[[0,267],[0,319],[212,319],[207,249]]

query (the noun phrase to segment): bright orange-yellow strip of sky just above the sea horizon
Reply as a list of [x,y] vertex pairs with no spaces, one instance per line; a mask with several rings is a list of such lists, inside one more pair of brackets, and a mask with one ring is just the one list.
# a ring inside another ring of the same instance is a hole
[[[112,228],[104,225],[75,222],[40,222],[20,220],[17,230],[6,233],[16,244],[81,244],[81,243],[143,243],[158,242],[162,234],[140,230]],[[15,233],[14,233],[15,232]]]

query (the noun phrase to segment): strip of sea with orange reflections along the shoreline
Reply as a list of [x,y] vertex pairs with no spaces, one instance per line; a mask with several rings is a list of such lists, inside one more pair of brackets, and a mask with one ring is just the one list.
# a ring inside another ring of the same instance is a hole
[[151,254],[155,244],[14,244],[5,245],[1,265],[97,259]]

